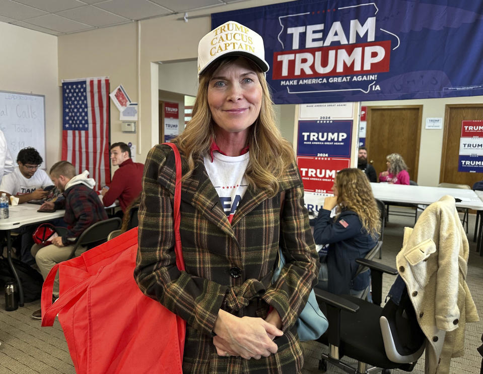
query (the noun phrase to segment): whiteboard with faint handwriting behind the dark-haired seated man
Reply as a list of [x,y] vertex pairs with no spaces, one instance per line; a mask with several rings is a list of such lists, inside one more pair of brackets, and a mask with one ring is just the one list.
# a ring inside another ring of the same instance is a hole
[[0,130],[17,164],[22,148],[34,147],[42,156],[45,167],[45,96],[0,91]]

